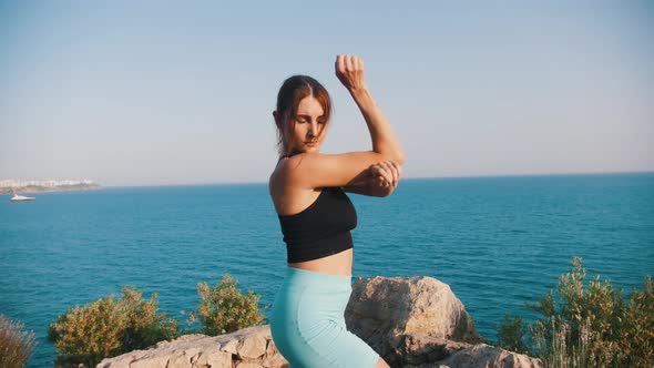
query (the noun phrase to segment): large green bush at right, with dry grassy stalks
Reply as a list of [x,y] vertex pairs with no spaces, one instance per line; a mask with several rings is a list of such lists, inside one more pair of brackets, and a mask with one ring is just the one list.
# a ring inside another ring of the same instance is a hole
[[546,367],[645,367],[654,361],[654,293],[646,276],[643,292],[623,290],[594,276],[584,284],[582,259],[550,290],[527,306],[543,316],[524,326],[507,316],[498,345],[537,355]]

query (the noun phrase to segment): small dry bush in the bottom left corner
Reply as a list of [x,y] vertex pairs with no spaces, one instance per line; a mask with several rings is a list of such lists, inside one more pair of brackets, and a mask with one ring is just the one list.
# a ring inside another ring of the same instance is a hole
[[0,314],[0,367],[24,367],[32,355],[34,331],[23,331],[23,326]]

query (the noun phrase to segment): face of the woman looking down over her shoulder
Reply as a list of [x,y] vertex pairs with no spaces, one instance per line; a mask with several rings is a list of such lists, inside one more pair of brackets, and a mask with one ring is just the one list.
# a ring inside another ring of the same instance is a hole
[[[295,124],[294,121],[295,120]],[[300,100],[297,114],[290,116],[286,125],[286,140],[293,146],[290,152],[319,152],[327,132],[327,120],[323,105],[309,95]],[[295,129],[294,129],[295,125]],[[287,151],[288,152],[288,151]]]

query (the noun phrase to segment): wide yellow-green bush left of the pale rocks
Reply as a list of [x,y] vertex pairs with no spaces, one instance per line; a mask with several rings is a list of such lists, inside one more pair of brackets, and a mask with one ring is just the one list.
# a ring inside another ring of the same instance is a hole
[[111,295],[75,306],[49,326],[48,338],[57,348],[57,364],[94,367],[103,358],[146,348],[178,336],[178,324],[159,315],[159,295],[150,300],[133,286],[123,286],[121,299]]

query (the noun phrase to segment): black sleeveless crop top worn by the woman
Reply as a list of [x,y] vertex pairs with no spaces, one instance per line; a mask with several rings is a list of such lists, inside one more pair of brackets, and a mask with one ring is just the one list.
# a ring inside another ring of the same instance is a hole
[[351,248],[357,212],[340,187],[325,187],[297,214],[278,215],[288,263],[323,258]]

